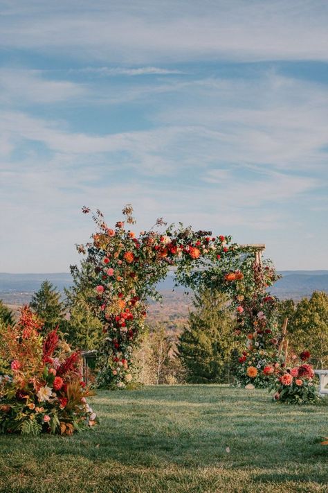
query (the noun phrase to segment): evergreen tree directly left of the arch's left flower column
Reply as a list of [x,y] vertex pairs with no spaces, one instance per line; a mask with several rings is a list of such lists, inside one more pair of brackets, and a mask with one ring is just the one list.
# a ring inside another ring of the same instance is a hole
[[75,348],[97,349],[102,335],[102,324],[94,315],[89,302],[93,295],[93,268],[89,263],[81,262],[80,269],[71,267],[73,285],[65,289],[66,308],[69,320],[66,320],[64,330],[66,340]]

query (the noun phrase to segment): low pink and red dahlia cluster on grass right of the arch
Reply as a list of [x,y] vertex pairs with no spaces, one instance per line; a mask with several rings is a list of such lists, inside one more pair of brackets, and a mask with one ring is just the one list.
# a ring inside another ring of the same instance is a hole
[[313,382],[313,367],[304,363],[310,356],[309,351],[304,351],[299,358],[293,354],[290,361],[275,364],[270,388],[275,390],[273,399],[286,404],[315,404],[320,400]]

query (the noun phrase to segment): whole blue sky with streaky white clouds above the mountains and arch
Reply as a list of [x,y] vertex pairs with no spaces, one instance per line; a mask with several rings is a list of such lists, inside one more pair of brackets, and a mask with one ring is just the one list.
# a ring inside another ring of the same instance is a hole
[[326,0],[0,0],[0,272],[131,203],[327,269]]

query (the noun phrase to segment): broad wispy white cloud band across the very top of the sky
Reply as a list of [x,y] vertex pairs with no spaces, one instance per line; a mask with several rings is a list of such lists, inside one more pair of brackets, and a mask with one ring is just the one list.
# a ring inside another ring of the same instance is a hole
[[111,62],[327,60],[327,18],[325,0],[12,1],[0,42]]

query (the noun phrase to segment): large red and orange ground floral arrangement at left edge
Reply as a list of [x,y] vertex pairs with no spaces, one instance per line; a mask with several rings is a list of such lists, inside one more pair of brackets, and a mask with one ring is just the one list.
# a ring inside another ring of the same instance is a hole
[[57,329],[42,337],[42,321],[24,307],[14,327],[1,331],[0,433],[72,435],[97,422],[80,374],[80,354]]

